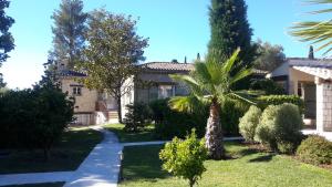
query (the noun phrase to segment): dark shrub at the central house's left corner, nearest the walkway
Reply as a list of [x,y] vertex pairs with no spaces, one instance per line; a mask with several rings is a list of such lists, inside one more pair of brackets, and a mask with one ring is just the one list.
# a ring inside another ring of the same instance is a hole
[[124,124],[126,131],[136,132],[149,123],[151,110],[144,103],[134,103],[126,105],[128,112],[125,115]]

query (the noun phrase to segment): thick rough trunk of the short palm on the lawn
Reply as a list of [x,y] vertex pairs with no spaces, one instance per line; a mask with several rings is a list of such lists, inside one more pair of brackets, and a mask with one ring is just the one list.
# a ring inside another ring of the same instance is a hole
[[221,159],[225,156],[222,131],[220,124],[219,104],[216,100],[210,106],[210,114],[206,127],[206,147],[211,159]]

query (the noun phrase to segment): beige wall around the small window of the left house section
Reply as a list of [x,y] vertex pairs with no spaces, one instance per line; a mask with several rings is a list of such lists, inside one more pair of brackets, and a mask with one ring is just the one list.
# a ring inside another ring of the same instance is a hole
[[[73,86],[71,85],[82,85],[77,83],[73,77],[65,77],[61,80],[62,92],[68,92],[69,96],[73,96]],[[81,89],[81,95],[75,97],[75,113],[92,113],[95,112],[95,104],[97,101],[97,92],[95,90],[89,90],[85,86]]]

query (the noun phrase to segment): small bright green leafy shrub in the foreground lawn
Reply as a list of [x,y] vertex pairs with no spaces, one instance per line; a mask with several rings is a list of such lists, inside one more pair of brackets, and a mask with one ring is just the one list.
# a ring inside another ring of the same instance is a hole
[[181,141],[175,137],[159,153],[160,159],[164,162],[163,168],[177,177],[189,180],[193,187],[206,170],[204,160],[207,158],[207,148],[205,141],[197,139],[195,129],[191,134]]

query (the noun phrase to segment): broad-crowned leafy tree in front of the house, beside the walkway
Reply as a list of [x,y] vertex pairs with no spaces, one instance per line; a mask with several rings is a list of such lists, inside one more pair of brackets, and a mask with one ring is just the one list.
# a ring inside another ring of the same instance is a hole
[[87,87],[106,91],[117,101],[118,120],[122,122],[121,97],[133,89],[126,82],[137,72],[145,58],[147,39],[136,33],[136,21],[123,14],[95,10],[89,18],[84,50],[85,61],[80,67],[89,76],[82,80]]

